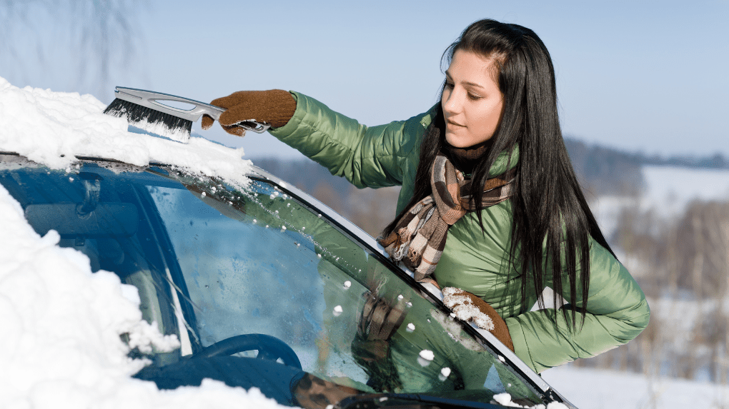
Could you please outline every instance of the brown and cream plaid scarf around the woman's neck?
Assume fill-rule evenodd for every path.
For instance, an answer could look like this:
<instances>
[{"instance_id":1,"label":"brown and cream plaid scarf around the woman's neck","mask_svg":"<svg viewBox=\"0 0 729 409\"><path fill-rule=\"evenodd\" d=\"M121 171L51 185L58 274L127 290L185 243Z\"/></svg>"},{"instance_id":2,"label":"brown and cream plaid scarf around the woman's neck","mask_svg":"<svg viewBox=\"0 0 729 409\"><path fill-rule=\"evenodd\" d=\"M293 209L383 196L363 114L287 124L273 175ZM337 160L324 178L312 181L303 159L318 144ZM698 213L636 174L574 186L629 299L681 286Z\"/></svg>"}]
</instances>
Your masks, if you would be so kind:
<instances>
[{"instance_id":1,"label":"brown and cream plaid scarf around the woman's neck","mask_svg":"<svg viewBox=\"0 0 729 409\"><path fill-rule=\"evenodd\" d=\"M486 180L483 186L483 207L504 202L511 196L515 168ZM430 177L432 194L416 203L402 215L395 229L378 242L393 260L402 261L421 281L429 277L443 255L448 227L456 223L469 210L471 181L453 167L451 161L438 155L433 162ZM461 192L464 193L461 196Z\"/></svg>"}]
</instances>

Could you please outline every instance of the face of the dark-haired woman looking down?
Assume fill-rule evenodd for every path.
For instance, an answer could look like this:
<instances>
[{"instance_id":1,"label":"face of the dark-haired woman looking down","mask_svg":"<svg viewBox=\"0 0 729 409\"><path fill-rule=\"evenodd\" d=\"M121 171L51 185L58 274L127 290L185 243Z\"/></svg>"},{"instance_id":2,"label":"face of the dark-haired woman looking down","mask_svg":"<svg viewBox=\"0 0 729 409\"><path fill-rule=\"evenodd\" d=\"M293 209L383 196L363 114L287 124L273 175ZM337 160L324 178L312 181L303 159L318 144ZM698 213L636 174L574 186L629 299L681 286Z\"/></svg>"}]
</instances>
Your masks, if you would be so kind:
<instances>
[{"instance_id":1,"label":"face of the dark-haired woman looking down","mask_svg":"<svg viewBox=\"0 0 729 409\"><path fill-rule=\"evenodd\" d=\"M494 59L457 50L445 71L445 140L467 148L491 139L501 121L504 95L492 78ZM495 75L495 74L494 74Z\"/></svg>"}]
</instances>

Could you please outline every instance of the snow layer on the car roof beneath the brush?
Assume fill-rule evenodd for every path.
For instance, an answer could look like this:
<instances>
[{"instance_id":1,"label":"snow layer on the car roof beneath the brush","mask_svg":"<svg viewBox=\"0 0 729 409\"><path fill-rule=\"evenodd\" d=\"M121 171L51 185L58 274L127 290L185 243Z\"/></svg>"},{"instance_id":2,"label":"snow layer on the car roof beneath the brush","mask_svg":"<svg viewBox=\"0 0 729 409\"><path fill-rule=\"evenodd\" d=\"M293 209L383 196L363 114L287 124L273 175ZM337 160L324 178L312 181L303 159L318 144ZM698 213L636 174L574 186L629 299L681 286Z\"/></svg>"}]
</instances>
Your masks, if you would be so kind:
<instances>
[{"instance_id":1,"label":"snow layer on the car roof beneath the brush","mask_svg":"<svg viewBox=\"0 0 729 409\"><path fill-rule=\"evenodd\" d=\"M47 167L63 169L74 156L117 159L145 166L171 164L196 174L245 186L251 162L243 149L227 148L204 138L179 143L128 132L125 119L102 113L92 95L20 89L0 77L0 151L15 152Z\"/></svg>"}]
</instances>

